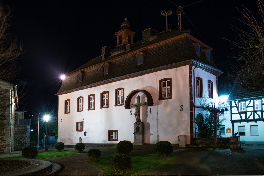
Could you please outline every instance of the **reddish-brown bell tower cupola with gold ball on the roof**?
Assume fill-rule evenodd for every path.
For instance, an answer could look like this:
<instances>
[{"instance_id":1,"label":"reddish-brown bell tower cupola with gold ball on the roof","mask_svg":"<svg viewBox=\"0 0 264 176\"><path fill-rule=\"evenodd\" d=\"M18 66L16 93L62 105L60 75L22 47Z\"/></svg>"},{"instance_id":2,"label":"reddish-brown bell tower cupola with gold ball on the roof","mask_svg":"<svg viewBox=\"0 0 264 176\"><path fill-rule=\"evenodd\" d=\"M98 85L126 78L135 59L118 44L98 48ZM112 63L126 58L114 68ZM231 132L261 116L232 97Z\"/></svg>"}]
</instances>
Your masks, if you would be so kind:
<instances>
[{"instance_id":1,"label":"reddish-brown bell tower cupola with gold ball on the roof","mask_svg":"<svg viewBox=\"0 0 264 176\"><path fill-rule=\"evenodd\" d=\"M121 23L121 28L119 31L115 32L116 35L116 46L123 43L133 44L133 39L135 32L131 31L130 23L125 18L125 21Z\"/></svg>"}]
</instances>

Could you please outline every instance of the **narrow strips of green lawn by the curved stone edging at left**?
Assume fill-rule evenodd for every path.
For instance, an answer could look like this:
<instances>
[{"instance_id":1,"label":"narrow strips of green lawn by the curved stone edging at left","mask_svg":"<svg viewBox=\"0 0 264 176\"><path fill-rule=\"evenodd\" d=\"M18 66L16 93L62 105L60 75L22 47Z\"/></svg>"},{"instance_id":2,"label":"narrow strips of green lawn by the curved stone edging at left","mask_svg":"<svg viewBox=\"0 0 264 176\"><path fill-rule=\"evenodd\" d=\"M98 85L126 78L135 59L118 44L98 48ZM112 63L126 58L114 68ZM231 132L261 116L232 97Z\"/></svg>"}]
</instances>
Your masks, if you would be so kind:
<instances>
[{"instance_id":1,"label":"narrow strips of green lawn by the curved stone edging at left","mask_svg":"<svg viewBox=\"0 0 264 176\"><path fill-rule=\"evenodd\" d=\"M41 159L41 158L50 158L54 156L63 156L63 155L72 155L72 154L79 154L77 151L68 151L68 150L62 150L62 151L45 151L38 153L36 159ZM4 158L25 158L22 155L16 155L16 156L8 156L8 157L2 157L0 159Z\"/></svg>"}]
</instances>

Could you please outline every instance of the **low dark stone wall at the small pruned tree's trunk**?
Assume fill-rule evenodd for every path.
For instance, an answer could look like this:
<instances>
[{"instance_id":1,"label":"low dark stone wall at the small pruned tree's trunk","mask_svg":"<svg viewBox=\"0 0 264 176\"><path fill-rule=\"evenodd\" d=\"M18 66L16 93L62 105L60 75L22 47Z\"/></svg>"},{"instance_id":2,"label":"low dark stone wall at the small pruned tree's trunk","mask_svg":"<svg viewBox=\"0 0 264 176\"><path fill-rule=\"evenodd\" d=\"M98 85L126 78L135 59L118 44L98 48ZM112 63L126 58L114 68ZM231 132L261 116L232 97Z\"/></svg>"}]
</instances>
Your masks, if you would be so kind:
<instances>
[{"instance_id":1,"label":"low dark stone wall at the small pruned tree's trunk","mask_svg":"<svg viewBox=\"0 0 264 176\"><path fill-rule=\"evenodd\" d=\"M191 147L214 147L214 138L192 138ZM217 148L228 149L229 138L219 137L217 138Z\"/></svg>"}]
</instances>

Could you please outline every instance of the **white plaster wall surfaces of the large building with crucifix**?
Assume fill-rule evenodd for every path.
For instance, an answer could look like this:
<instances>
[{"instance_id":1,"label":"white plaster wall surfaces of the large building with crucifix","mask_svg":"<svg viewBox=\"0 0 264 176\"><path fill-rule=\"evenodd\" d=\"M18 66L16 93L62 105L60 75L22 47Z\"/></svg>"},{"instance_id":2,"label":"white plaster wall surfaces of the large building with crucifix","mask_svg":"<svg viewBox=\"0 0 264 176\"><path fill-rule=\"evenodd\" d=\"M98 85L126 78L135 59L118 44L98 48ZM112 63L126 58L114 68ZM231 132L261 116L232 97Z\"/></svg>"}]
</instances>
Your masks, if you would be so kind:
<instances>
[{"instance_id":1,"label":"white plaster wall surfaces of the large building with crucifix","mask_svg":"<svg viewBox=\"0 0 264 176\"><path fill-rule=\"evenodd\" d=\"M216 94L216 76L195 69L195 76L203 79L204 95L207 95L207 81L213 81L214 100ZM158 81L172 78L172 99L158 100ZM67 79L67 78L66 78ZM141 107L141 121L144 123L144 143L156 143L157 140L178 144L179 135L187 135L190 144L190 75L189 66L162 70L118 82L103 84L75 92L59 95L59 141L65 145L75 145L82 138L82 143L111 144L122 140L134 142L135 108L125 109L115 105L115 89L124 88L124 101L128 94L140 89L148 91L153 98L153 106ZM109 91L109 107L100 109L100 93ZM87 110L88 95L95 94L95 110ZM139 92L131 100L136 103L147 101L144 93ZM77 98L83 97L83 111L77 112ZM70 99L70 113L64 114L64 101ZM216 101L217 102L217 101ZM182 111L181 105L183 106ZM131 111L132 110L132 111ZM150 113L151 111L151 113ZM76 122L83 121L83 132L76 131ZM118 141L108 141L107 130L118 130ZM158 136L158 137L157 137Z\"/></svg>"}]
</instances>

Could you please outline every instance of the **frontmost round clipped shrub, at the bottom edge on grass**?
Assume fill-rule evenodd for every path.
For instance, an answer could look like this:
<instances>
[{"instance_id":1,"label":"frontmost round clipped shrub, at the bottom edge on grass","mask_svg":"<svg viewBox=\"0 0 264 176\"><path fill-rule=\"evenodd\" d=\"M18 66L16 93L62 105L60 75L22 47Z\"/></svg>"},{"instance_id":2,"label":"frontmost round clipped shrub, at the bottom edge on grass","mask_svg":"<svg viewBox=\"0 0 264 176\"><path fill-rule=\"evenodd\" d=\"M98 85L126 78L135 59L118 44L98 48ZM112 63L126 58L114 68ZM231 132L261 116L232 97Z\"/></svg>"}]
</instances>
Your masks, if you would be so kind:
<instances>
[{"instance_id":1,"label":"frontmost round clipped shrub, at the bottom edge on grass","mask_svg":"<svg viewBox=\"0 0 264 176\"><path fill-rule=\"evenodd\" d=\"M132 168L132 160L128 155L116 154L110 158L110 167L115 175L124 175Z\"/></svg>"}]
</instances>

